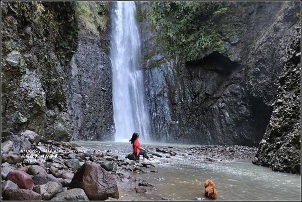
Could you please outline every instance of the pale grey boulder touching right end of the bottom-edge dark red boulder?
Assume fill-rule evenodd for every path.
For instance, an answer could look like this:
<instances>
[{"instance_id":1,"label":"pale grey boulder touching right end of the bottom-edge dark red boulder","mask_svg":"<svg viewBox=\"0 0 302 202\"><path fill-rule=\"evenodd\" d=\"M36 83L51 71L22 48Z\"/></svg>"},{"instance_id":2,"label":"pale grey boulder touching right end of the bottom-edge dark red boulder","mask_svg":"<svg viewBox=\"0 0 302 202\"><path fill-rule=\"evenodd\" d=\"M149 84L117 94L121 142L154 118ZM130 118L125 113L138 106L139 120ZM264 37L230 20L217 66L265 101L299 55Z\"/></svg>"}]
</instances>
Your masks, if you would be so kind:
<instances>
[{"instance_id":1,"label":"pale grey boulder touching right end of the bottom-edge dark red boulder","mask_svg":"<svg viewBox=\"0 0 302 202\"><path fill-rule=\"evenodd\" d=\"M62 188L60 183L55 181L47 182L46 184L39 184L34 187L34 191L42 195L43 200L50 200Z\"/></svg>"}]
</instances>

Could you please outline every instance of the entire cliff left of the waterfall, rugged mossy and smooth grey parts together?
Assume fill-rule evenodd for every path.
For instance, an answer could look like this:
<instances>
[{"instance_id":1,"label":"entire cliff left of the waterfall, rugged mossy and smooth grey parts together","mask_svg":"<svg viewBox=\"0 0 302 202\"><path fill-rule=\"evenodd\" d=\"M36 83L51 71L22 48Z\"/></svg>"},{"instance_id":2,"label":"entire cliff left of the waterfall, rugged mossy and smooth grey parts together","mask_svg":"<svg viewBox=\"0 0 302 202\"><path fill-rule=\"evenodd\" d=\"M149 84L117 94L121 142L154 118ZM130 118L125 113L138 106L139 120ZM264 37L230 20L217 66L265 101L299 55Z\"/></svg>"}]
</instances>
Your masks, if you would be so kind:
<instances>
[{"instance_id":1,"label":"entire cliff left of the waterfall, rugged mossy and smooth grey parts together","mask_svg":"<svg viewBox=\"0 0 302 202\"><path fill-rule=\"evenodd\" d=\"M80 30L74 2L1 9L3 128L58 141L112 140L107 31Z\"/></svg>"}]
</instances>

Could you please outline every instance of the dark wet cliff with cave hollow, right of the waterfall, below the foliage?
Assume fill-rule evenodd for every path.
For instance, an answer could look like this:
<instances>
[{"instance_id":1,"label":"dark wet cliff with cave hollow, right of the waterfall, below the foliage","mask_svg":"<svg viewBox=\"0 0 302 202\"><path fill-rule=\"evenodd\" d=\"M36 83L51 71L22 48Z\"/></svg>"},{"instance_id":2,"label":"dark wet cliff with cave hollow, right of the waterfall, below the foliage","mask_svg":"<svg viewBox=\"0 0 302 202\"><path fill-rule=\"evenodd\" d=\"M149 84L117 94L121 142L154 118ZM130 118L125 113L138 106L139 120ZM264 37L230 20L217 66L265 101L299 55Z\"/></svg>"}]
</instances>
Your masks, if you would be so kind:
<instances>
[{"instance_id":1,"label":"dark wet cliff with cave hollow, right of the waterfall, below the foliage","mask_svg":"<svg viewBox=\"0 0 302 202\"><path fill-rule=\"evenodd\" d=\"M142 13L149 4L136 3ZM221 30L225 49L200 53L205 57L199 61L163 53L148 19L139 24L154 140L257 145L263 137L300 7L270 2L241 8L230 22L241 32L237 39Z\"/></svg>"}]
</instances>

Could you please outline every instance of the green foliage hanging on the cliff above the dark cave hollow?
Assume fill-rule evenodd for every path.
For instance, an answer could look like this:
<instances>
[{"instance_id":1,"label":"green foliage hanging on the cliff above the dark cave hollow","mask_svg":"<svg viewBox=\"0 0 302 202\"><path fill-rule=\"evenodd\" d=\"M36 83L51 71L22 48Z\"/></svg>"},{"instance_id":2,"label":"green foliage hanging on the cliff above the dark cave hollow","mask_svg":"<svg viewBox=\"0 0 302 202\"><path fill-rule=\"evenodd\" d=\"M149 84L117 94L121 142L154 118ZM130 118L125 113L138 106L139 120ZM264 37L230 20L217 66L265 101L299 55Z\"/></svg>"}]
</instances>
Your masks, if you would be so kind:
<instances>
[{"instance_id":1,"label":"green foliage hanging on the cliff above the dark cave hollow","mask_svg":"<svg viewBox=\"0 0 302 202\"><path fill-rule=\"evenodd\" d=\"M229 12L219 2L154 2L148 18L159 33L164 51L197 60L224 49L215 19Z\"/></svg>"}]
</instances>

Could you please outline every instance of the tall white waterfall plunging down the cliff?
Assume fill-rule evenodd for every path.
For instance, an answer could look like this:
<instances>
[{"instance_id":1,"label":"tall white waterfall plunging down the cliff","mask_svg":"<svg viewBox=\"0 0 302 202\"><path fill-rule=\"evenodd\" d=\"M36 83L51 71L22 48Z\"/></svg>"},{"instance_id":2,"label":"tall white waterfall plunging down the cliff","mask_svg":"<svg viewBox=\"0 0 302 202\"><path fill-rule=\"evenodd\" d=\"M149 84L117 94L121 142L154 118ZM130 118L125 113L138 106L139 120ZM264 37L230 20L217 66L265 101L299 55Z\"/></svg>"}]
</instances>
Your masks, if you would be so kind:
<instances>
[{"instance_id":1,"label":"tall white waterfall plunging down the cliff","mask_svg":"<svg viewBox=\"0 0 302 202\"><path fill-rule=\"evenodd\" d=\"M150 121L135 12L134 2L116 2L112 15L110 60L115 141L127 141L133 132L138 132L143 141L149 141Z\"/></svg>"}]
</instances>

